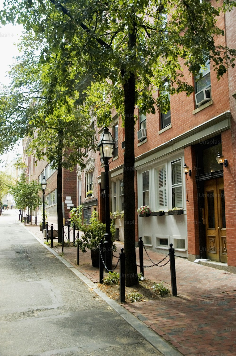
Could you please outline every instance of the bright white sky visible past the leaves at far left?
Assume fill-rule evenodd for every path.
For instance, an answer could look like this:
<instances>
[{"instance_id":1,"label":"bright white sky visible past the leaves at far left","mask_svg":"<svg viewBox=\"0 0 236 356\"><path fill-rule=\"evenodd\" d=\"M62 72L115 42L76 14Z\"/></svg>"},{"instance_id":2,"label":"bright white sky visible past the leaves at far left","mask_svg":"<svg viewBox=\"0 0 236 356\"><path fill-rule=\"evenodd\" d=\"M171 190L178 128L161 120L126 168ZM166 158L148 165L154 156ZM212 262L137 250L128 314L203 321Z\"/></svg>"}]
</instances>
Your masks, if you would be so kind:
<instances>
[{"instance_id":1,"label":"bright white sky visible past the leaves at far left","mask_svg":"<svg viewBox=\"0 0 236 356\"><path fill-rule=\"evenodd\" d=\"M3 8L3 1L0 1L0 9ZM0 27L0 90L3 89L3 85L9 85L10 79L7 78L7 71L10 69L16 59L14 57L19 56L16 43L20 40L23 27L20 25L8 24ZM17 146L9 153L10 157L14 157L16 153L22 153L22 145ZM5 160L7 155L0 156L2 160ZM0 164L0 170L3 167Z\"/></svg>"}]
</instances>

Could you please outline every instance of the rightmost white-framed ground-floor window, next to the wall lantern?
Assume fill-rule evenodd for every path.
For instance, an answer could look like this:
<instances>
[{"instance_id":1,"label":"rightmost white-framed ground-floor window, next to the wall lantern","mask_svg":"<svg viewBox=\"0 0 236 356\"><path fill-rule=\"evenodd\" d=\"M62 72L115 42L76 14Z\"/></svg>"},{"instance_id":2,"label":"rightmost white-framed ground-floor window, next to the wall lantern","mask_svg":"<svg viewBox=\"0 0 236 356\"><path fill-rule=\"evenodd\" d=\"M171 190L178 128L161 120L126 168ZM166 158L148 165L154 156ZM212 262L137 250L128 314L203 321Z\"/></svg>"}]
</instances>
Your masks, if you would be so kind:
<instances>
[{"instance_id":1,"label":"rightmost white-framed ground-floor window, next to the wall lantern","mask_svg":"<svg viewBox=\"0 0 236 356\"><path fill-rule=\"evenodd\" d=\"M183 207L181 159L171 162L172 208Z\"/></svg>"}]
</instances>

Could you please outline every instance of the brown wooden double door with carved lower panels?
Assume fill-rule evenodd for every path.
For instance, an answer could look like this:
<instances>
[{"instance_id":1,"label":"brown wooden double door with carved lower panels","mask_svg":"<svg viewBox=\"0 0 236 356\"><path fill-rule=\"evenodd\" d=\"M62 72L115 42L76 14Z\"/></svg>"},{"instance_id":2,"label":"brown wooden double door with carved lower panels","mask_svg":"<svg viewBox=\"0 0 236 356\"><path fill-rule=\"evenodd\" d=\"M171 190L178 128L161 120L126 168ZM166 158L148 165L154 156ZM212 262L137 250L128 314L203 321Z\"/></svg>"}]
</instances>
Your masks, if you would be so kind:
<instances>
[{"instance_id":1,"label":"brown wooden double door with carved lower panels","mask_svg":"<svg viewBox=\"0 0 236 356\"><path fill-rule=\"evenodd\" d=\"M227 263L225 193L223 178L204 183L207 258Z\"/></svg>"}]
</instances>

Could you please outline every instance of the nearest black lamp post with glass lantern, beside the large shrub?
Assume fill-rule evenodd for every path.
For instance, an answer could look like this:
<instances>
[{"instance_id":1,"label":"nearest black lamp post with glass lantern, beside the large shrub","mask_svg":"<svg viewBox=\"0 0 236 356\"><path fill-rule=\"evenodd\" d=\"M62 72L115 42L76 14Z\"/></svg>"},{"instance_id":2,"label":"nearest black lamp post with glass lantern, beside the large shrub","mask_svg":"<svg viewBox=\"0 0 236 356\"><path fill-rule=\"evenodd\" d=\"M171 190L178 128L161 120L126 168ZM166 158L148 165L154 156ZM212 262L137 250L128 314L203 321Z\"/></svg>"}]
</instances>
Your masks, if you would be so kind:
<instances>
[{"instance_id":1,"label":"nearest black lamp post with glass lantern, beside the large shrub","mask_svg":"<svg viewBox=\"0 0 236 356\"><path fill-rule=\"evenodd\" d=\"M113 156L115 141L111 136L107 127L104 127L100 142L98 143L100 160L104 163L105 169L105 192L106 192L106 232L104 235L104 250L105 250L105 265L112 269L112 242L111 242L111 228L110 228L110 209L109 209L109 160Z\"/></svg>"}]
</instances>

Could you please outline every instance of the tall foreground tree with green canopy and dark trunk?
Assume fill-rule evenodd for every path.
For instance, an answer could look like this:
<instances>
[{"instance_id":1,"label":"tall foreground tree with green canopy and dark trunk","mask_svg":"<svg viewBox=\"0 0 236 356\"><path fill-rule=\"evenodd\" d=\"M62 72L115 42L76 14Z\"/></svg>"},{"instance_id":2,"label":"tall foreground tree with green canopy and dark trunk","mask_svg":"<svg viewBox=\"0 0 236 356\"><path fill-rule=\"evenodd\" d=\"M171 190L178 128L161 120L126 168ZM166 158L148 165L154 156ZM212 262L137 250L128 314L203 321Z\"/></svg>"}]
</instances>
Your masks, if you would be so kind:
<instances>
[{"instance_id":1,"label":"tall foreground tree with green canopy and dark trunk","mask_svg":"<svg viewBox=\"0 0 236 356\"><path fill-rule=\"evenodd\" d=\"M126 285L138 282L135 257L134 132L135 105L141 112L168 110L167 96L192 93L191 75L199 74L212 60L218 78L233 64L235 50L215 42L224 32L216 26L220 11L230 10L235 1L223 0L221 7L208 0L8 0L2 21L23 23L35 36L44 36L40 63L50 68L49 108L54 86L83 104L94 83L106 82L97 119L107 123L110 105L121 114L125 125L124 155L124 245ZM168 78L168 88L164 85ZM160 89L158 98L153 92ZM75 93L78 93L76 95ZM96 96L96 95L95 95ZM64 98L59 98L63 103ZM100 110L99 110L100 109ZM51 109L49 109L51 110Z\"/></svg>"}]
</instances>

